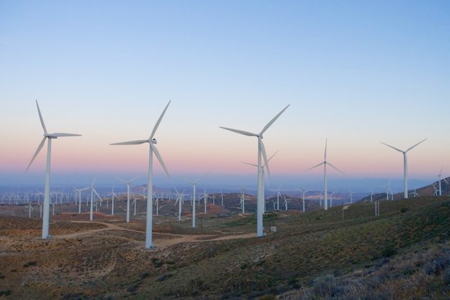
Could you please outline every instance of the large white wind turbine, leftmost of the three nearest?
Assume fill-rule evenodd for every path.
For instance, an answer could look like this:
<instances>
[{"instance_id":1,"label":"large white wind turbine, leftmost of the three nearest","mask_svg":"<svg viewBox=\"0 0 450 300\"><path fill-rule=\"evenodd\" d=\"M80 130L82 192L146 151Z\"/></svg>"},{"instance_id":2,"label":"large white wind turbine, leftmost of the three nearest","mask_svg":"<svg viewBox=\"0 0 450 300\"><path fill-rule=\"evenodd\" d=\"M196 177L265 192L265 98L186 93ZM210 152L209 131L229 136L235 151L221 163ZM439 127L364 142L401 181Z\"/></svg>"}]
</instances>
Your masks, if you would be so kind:
<instances>
[{"instance_id":1,"label":"large white wind turbine, leftmost of the three nearest","mask_svg":"<svg viewBox=\"0 0 450 300\"><path fill-rule=\"evenodd\" d=\"M39 113L39 119L41 120L42 129L44 129L44 138L42 138L41 143L39 146L37 146L36 152L34 152L34 155L31 159L30 164L28 164L27 169L25 170L25 173L30 168L31 164L33 163L34 159L39 154L39 151L41 151L42 147L44 147L44 143L46 139L47 141L47 162L46 162L46 171L45 171L45 189L44 189L44 216L42 218L42 238L46 239L50 237L49 235L49 222L50 222L50 160L51 160L51 140L53 138L61 138L64 136L81 136L80 134L74 134L74 133L48 133L47 129L44 124L44 119L41 115L41 110L39 110L39 104L37 104L37 112Z\"/></svg>"}]
</instances>

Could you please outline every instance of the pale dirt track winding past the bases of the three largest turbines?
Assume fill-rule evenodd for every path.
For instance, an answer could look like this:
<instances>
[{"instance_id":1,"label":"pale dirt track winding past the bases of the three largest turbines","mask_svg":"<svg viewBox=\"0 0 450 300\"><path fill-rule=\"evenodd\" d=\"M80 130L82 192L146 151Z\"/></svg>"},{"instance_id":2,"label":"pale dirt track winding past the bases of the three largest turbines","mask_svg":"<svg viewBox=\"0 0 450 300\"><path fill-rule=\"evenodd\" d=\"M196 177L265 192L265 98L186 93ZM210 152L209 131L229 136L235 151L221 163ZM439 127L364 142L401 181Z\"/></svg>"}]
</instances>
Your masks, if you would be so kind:
<instances>
[{"instance_id":1,"label":"pale dirt track winding past the bases of the three largest turbines","mask_svg":"<svg viewBox=\"0 0 450 300\"><path fill-rule=\"evenodd\" d=\"M133 230L128 228L123 228L111 223L105 223L105 222L96 222L96 221L71 221L72 223L98 223L105 228L98 228L98 229L89 229L85 231L80 231L78 233L69 233L67 235L53 235L52 237L55 239L74 239L77 237L82 237L86 235L94 235L96 233L101 233L102 231L106 230L125 230L125 231L133 231L136 233L142 233L143 231L139 230ZM222 237L217 237L217 235L181 235L176 233L161 233L162 235L172 235L175 236L175 238L172 239L165 239L165 240L158 240L155 239L155 246L156 247L169 247L174 244L181 244L185 242L211 242L216 240L233 240L233 239L241 239L241 238L249 238L249 237L255 237L255 233L245 233L240 235L224 235ZM208 239L208 237L211 237Z\"/></svg>"}]
</instances>

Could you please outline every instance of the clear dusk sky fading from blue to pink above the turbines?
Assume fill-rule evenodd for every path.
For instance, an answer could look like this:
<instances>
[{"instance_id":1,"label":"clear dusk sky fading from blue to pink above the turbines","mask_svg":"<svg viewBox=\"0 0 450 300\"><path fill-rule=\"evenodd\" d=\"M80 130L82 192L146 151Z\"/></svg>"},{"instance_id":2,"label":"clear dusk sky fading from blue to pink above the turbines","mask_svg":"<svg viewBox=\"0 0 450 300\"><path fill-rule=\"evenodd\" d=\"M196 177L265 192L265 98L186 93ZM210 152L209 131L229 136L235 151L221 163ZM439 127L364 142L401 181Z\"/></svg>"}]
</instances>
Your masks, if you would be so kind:
<instances>
[{"instance_id":1,"label":"clear dusk sky fading from blue to pink above the turbines","mask_svg":"<svg viewBox=\"0 0 450 300\"><path fill-rule=\"evenodd\" d=\"M44 185L49 132L52 183L140 176L155 138L155 185L182 177L256 185L264 133L272 186L338 188L449 176L449 1L7 1L0 0L0 185ZM373 179L373 183L371 183ZM378 181L377 181L378 180ZM376 183L375 183L376 182ZM385 183L386 184L386 183ZM399 185L401 186L401 184Z\"/></svg>"}]
</instances>

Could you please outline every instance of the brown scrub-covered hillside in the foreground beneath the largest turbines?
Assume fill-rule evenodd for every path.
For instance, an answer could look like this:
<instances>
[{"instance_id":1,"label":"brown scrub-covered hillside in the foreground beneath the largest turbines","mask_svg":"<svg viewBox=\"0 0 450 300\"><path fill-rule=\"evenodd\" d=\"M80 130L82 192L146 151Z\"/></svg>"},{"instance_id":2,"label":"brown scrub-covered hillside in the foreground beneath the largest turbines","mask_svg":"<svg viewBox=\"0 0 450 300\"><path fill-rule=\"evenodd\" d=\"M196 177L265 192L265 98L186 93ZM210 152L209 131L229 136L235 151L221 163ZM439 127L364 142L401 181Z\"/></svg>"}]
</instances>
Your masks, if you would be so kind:
<instances>
[{"instance_id":1,"label":"brown scrub-covered hillside in the foreground beneath the largest turbines","mask_svg":"<svg viewBox=\"0 0 450 300\"><path fill-rule=\"evenodd\" d=\"M39 220L0 217L0 296L448 299L450 197L380 211L366 202L265 214L277 231L259 238L249 237L252 214L203 214L202 232L155 216L153 250L143 249L143 220L52 221L54 237L40 240Z\"/></svg>"}]
</instances>

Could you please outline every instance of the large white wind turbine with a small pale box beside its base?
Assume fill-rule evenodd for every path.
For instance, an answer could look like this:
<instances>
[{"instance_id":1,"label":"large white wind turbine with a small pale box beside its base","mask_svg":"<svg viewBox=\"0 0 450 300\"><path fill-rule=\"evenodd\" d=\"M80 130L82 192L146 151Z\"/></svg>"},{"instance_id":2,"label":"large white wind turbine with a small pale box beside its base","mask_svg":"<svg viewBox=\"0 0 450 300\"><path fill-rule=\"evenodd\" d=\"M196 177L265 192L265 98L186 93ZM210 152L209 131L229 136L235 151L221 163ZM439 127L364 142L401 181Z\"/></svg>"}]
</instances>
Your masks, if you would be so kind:
<instances>
[{"instance_id":1,"label":"large white wind turbine with a small pale box beside its base","mask_svg":"<svg viewBox=\"0 0 450 300\"><path fill-rule=\"evenodd\" d=\"M265 166L267 169L267 174L270 176L269 171L269 164L267 161L267 155L266 155L266 149L264 148L264 143L262 143L262 138L264 132L266 132L267 129L271 126L271 124L274 124L276 119L281 116L281 114L288 109L289 105L286 106L281 112L278 112L278 115L276 115L269 123L264 126L261 132L259 133L252 133L249 131L243 131L239 129L231 129L226 127L220 127L221 129L226 129L229 131L233 131L239 134L243 134L244 136L255 136L258 138L258 193L257 193L257 236L261 237L264 235L262 232L262 214L264 214L265 211L265 205L264 205L264 176L262 173L262 158L264 158Z\"/></svg>"}]
</instances>

